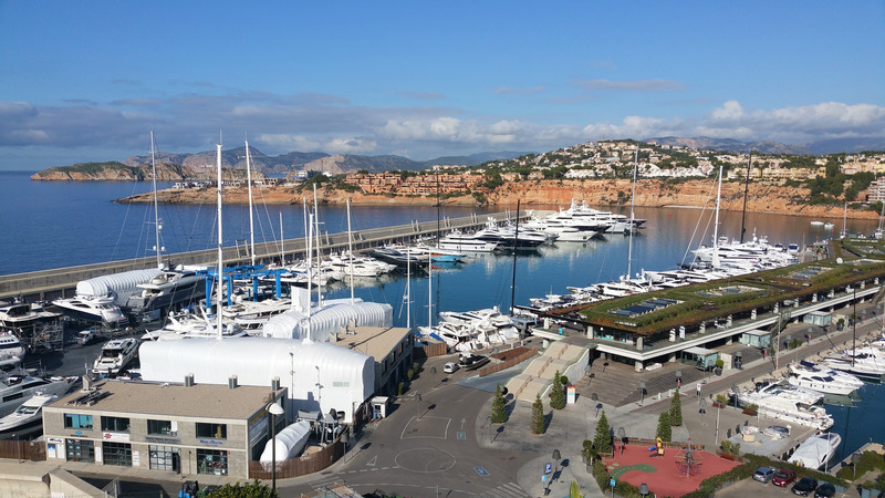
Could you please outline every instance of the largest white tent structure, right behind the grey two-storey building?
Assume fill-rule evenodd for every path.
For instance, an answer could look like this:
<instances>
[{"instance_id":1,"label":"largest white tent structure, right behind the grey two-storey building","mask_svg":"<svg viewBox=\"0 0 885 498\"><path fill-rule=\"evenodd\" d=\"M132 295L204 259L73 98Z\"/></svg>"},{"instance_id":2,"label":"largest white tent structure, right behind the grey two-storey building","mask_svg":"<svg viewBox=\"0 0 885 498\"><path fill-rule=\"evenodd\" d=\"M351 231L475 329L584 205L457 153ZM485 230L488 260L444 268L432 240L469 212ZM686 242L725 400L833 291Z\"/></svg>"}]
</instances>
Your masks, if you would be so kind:
<instances>
[{"instance_id":1,"label":"largest white tent structure, right behind the grey two-storey building","mask_svg":"<svg viewBox=\"0 0 885 498\"><path fill-rule=\"evenodd\" d=\"M142 377L152 382L267 386L274 377L289 388L287 413L301 411L353 412L374 391L372 356L327 342L293 339L231 338L148 341L138 350Z\"/></svg>"}]
</instances>

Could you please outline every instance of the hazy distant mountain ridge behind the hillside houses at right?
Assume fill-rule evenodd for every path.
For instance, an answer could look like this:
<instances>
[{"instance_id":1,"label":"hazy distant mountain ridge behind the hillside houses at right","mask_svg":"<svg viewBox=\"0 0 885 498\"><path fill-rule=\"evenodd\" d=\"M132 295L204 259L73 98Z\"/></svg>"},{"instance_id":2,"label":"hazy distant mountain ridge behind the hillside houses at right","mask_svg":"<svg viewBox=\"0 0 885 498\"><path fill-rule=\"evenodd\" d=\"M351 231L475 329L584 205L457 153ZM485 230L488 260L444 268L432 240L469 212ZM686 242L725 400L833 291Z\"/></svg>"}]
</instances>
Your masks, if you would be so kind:
<instances>
[{"instance_id":1,"label":"hazy distant mountain ridge behind the hillside houses at right","mask_svg":"<svg viewBox=\"0 0 885 498\"><path fill-rule=\"evenodd\" d=\"M788 145L780 142L740 142L731 138L710 138L699 136L694 138L665 136L646 138L644 142L660 145L681 145L708 151L749 152L762 154L792 154L792 155L825 155L839 153L858 153L864 151L885 151L885 137L879 138L834 138L816 141L806 144Z\"/></svg>"}]
</instances>

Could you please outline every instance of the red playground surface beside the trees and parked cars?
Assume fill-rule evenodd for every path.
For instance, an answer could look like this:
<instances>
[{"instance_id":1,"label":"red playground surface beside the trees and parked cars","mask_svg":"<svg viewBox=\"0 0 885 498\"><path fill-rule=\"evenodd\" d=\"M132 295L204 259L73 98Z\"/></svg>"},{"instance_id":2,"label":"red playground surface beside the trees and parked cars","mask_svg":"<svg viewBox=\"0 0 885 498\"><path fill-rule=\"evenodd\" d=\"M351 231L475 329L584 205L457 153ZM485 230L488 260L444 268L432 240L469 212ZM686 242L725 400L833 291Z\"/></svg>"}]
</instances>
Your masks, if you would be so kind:
<instances>
[{"instance_id":1,"label":"red playground surface beside the trees and parked cars","mask_svg":"<svg viewBox=\"0 0 885 498\"><path fill-rule=\"evenodd\" d=\"M686 475L685 468L679 468L679 455L681 449L667 448L664 456L652 457L655 453L648 452L646 446L627 445L624 454L621 454L621 446L615 449L615 457L605 460L610 474L621 474L616 480L624 480L633 486L639 487L645 483L648 490L658 497L679 497L691 492L700 487L700 483L710 476L722 474L737 467L737 461L719 458L706 452L695 452L695 457L699 465L695 465L691 475ZM636 469L626 470L625 467L638 466ZM625 471L626 470L626 471Z\"/></svg>"}]
</instances>

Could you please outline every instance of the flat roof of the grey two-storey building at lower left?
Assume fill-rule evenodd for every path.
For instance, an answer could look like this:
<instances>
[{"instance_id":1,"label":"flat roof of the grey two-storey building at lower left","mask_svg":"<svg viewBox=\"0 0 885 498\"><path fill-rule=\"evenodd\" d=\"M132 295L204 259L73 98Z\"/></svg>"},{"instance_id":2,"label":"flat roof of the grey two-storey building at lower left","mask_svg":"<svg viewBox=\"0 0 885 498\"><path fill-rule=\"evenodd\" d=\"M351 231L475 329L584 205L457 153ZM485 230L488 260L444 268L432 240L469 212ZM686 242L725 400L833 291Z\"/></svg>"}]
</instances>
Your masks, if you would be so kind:
<instances>
[{"instance_id":1,"label":"flat roof of the grey two-storey building at lower left","mask_svg":"<svg viewBox=\"0 0 885 498\"><path fill-rule=\"evenodd\" d=\"M184 378L183 378L184 381ZM270 386L229 388L227 385L153 383L108 380L93 384L94 402L75 404L83 391L74 391L49 405L59 409L83 409L199 418L247 419L273 398ZM282 391L282 390L281 390Z\"/></svg>"}]
</instances>

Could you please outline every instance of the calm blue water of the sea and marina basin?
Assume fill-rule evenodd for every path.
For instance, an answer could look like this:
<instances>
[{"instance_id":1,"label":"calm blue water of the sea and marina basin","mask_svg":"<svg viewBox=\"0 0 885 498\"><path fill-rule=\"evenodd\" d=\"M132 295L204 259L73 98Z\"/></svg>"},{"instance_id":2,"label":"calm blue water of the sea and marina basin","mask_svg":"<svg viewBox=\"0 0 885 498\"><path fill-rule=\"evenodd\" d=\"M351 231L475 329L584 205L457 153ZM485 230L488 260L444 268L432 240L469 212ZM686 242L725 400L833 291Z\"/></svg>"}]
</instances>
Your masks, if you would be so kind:
<instances>
[{"instance_id":1,"label":"calm blue water of the sea and marina basin","mask_svg":"<svg viewBox=\"0 0 885 498\"><path fill-rule=\"evenodd\" d=\"M73 264L153 256L153 206L118 205L113 199L150 191L150 183L51 183L31 181L29 173L0 172L0 274L18 273ZM163 186L167 186L164 184ZM302 237L301 206L267 206L257 195L256 241L280 238L280 214L283 236ZM543 207L554 209L553 206ZM541 208L539 208L541 209ZM490 210L503 210L493 208ZM487 212L476 208L444 207L442 216L460 217ZM628 214L626 210L622 212ZM215 206L160 206L163 245L167 252L209 249L217 245ZM636 216L647 218L646 229L633 239L632 271L674 268L690 258L688 248L709 241L712 214L686 208L636 208ZM354 229L408 224L413 219L431 221L435 207L354 207ZM324 230L346 231L344 207L321 207ZM772 242L809 243L830 237L823 228L810 225L811 218L747 214L747 236L753 229ZM831 219L835 230L841 219ZM249 210L246 206L223 208L225 246L249 238ZM720 235L738 237L741 214L720 214ZM847 230L870 234L875 221L848 220ZM537 252L521 252L516 258L516 303L528 304L529 298L545 293L564 293L566 286L586 286L614 280L627 270L629 238L610 236L586 245L559 243ZM511 303L513 257L481 255L452 268L436 268L433 281L433 312L466 311ZM406 324L406 279L402 276L384 280L360 281L360 298L388 302L394 307L394 321ZM428 317L428 279L416 276L410 281L410 323L423 325ZM325 295L344 298L350 290L326 290ZM835 418L834 430L845 440L846 454L872 438L885 440L885 426L879 424L885 408L883 387L866 386L864 402L857 407L829 407ZM847 433L846 433L847 429Z\"/></svg>"}]
</instances>

